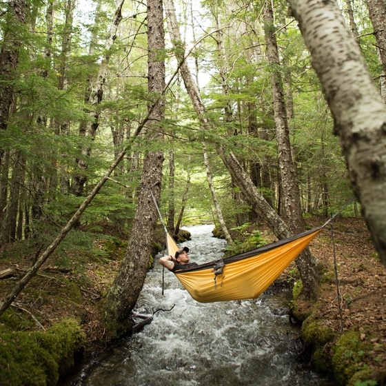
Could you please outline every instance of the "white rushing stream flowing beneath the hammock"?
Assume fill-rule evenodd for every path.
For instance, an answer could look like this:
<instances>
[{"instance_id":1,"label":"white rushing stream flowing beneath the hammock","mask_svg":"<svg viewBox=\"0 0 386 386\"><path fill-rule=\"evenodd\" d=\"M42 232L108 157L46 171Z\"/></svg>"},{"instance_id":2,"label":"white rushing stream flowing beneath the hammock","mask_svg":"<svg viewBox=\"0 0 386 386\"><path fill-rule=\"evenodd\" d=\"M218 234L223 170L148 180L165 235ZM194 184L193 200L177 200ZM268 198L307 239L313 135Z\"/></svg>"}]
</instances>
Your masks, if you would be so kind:
<instances>
[{"instance_id":1,"label":"white rushing stream flowing beneath the hammock","mask_svg":"<svg viewBox=\"0 0 386 386\"><path fill-rule=\"evenodd\" d=\"M212 237L212 225L186 227L190 260L223 256L225 241ZM95 358L71 385L325 385L296 361L298 329L287 316L288 292L258 299L197 303L177 278L156 261L136 312L152 323ZM68 384L70 385L70 383Z\"/></svg>"}]
</instances>

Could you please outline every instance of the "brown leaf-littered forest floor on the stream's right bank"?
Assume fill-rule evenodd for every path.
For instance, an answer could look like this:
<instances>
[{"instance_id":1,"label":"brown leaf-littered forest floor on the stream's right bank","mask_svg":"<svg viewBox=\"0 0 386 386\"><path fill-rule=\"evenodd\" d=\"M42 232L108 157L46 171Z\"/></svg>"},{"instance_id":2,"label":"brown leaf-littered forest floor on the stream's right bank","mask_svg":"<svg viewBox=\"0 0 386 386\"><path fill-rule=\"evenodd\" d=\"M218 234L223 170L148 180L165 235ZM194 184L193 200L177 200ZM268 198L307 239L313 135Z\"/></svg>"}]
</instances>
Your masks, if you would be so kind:
<instances>
[{"instance_id":1,"label":"brown leaf-littered forest floor on the stream's right bank","mask_svg":"<svg viewBox=\"0 0 386 386\"><path fill-rule=\"evenodd\" d=\"M321 221L307 219L307 224L316 227ZM325 365L333 370L333 363L334 376L337 371L342 372L338 376L341 381L356 373L350 385L385 385L386 267L380 263L365 221L338 217L332 229L327 226L314 238L310 250L327 268L325 278L316 303L299 300L296 305L304 314L311 313L310 319L318 327L334 332L335 345L328 339L323 342L323 338L319 342L327 358ZM303 338L307 340L307 333ZM312 339L318 341L317 336Z\"/></svg>"}]
</instances>

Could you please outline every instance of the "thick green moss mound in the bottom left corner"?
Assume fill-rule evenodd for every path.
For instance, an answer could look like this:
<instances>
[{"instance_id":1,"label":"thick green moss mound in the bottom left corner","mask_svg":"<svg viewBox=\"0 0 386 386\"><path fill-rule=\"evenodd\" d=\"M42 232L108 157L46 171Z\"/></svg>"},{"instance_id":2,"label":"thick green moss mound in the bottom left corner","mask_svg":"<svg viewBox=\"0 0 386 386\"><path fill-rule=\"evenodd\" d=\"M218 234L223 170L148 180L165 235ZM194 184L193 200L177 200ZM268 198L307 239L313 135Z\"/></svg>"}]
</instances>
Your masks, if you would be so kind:
<instances>
[{"instance_id":1,"label":"thick green moss mound in the bottom left corner","mask_svg":"<svg viewBox=\"0 0 386 386\"><path fill-rule=\"evenodd\" d=\"M56 385L74 365L74 354L84 343L84 333L73 320L47 332L4 332L0 337L0 384Z\"/></svg>"}]
</instances>

